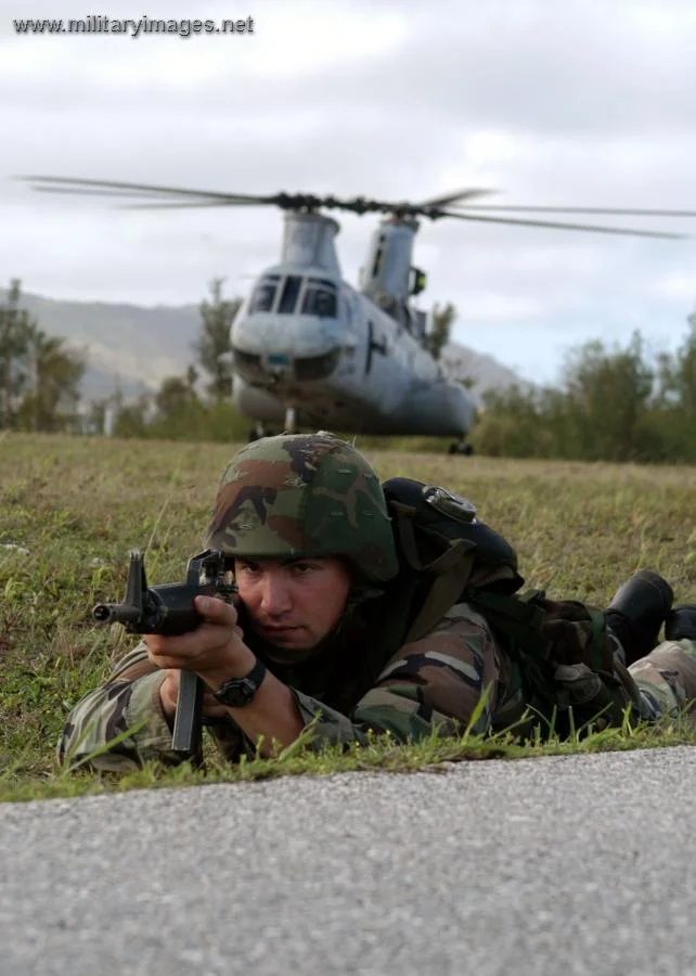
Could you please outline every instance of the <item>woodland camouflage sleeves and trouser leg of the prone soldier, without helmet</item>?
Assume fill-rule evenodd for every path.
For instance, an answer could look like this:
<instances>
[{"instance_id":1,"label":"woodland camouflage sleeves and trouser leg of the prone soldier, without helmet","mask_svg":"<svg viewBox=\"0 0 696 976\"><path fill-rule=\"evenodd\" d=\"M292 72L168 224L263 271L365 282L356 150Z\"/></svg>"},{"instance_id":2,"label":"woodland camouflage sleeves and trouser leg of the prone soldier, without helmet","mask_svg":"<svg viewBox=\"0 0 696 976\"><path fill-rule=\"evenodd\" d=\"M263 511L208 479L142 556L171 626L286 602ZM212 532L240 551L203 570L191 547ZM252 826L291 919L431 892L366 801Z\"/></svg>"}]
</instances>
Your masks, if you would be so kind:
<instances>
[{"instance_id":1,"label":"woodland camouflage sleeves and trouser leg of the prone soldier, without helmet","mask_svg":"<svg viewBox=\"0 0 696 976\"><path fill-rule=\"evenodd\" d=\"M473 732L512 728L521 733L533 723L523 722L529 694L516 666L501 653L484 617L467 604L452 607L429 634L404 645L353 707L341 705L339 710L321 688L314 694L302 690L301 677L297 679L292 669L279 665L272 669L289 684L306 727L314 724L309 743L314 749L325 744L364 744L371 731L388 732L398 742L462 732L481 697L484 707ZM644 718L674 716L686 702L696 699L696 642L665 642L632 665L629 673L635 680ZM176 765L172 730L159 703L162 680L145 645L139 644L102 688L75 707L59 743L59 761L74 763L102 750L91 761L98 770L125 772L147 760ZM210 727L210 732L229 761L255 755L254 745L232 720ZM103 752L116 736L123 741Z\"/></svg>"}]
</instances>

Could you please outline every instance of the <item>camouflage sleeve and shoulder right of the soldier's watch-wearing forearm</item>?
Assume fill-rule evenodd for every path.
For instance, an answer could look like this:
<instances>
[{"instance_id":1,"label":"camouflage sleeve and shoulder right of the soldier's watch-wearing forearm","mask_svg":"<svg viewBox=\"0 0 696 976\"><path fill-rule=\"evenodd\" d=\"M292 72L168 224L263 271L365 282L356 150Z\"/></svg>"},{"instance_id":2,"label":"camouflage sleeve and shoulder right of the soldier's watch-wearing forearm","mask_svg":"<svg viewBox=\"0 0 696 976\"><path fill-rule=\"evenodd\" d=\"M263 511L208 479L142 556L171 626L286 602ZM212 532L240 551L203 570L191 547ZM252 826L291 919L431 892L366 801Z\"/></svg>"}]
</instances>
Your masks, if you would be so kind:
<instances>
[{"instance_id":1,"label":"camouflage sleeve and shoulder right of the soldier's watch-wearing forearm","mask_svg":"<svg viewBox=\"0 0 696 976\"><path fill-rule=\"evenodd\" d=\"M398 742L491 728L501 673L485 619L466 604L452 607L424 638L405 644L350 717L294 690L301 717L314 722L313 748L368 742L370 731ZM477 712L478 714L475 715Z\"/></svg>"}]
</instances>

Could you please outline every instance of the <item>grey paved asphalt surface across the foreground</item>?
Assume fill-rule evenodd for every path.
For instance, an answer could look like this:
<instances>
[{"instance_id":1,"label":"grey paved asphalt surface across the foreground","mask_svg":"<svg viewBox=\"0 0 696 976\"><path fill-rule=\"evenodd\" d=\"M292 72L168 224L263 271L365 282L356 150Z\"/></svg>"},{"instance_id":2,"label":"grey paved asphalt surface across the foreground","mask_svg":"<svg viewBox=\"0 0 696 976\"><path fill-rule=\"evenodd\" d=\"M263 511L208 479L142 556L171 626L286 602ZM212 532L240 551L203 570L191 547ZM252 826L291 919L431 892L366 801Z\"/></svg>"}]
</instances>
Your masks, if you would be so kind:
<instances>
[{"instance_id":1,"label":"grey paved asphalt surface across the foreground","mask_svg":"<svg viewBox=\"0 0 696 976\"><path fill-rule=\"evenodd\" d=\"M696 750L0 806L0 974L696 974Z\"/></svg>"}]
</instances>

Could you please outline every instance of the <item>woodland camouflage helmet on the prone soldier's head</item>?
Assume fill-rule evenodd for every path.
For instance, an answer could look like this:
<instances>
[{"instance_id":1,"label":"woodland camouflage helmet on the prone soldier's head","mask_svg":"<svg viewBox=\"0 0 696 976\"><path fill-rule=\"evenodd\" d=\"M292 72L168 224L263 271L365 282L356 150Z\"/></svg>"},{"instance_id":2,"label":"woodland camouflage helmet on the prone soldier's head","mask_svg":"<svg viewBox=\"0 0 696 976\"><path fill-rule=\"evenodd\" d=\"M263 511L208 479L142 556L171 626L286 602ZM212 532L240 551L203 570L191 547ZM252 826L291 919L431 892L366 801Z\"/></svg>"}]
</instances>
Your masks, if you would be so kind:
<instances>
[{"instance_id":1,"label":"woodland camouflage helmet on the prone soldier's head","mask_svg":"<svg viewBox=\"0 0 696 976\"><path fill-rule=\"evenodd\" d=\"M340 555L370 582L399 569L377 475L324 431L263 437L239 451L220 479L205 544L256 558Z\"/></svg>"}]
</instances>

